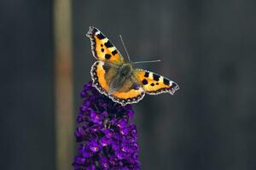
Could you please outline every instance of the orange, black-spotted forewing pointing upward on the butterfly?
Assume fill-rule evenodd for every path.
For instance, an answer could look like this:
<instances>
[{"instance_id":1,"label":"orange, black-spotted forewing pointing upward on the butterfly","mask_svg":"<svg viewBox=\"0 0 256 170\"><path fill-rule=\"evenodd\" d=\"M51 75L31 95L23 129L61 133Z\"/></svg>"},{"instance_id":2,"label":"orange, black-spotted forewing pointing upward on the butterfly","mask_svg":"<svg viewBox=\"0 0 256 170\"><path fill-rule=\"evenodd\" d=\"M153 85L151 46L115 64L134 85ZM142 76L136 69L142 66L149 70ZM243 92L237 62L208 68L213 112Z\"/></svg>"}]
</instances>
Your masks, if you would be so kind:
<instances>
[{"instance_id":1,"label":"orange, black-spotted forewing pointing upward on the butterfly","mask_svg":"<svg viewBox=\"0 0 256 170\"><path fill-rule=\"evenodd\" d=\"M112 63L114 65L121 65L124 63L122 55L119 50L114 47L113 43L105 37L101 31L95 27L90 26L87 37L90 37L91 51L96 59Z\"/></svg>"}]
</instances>

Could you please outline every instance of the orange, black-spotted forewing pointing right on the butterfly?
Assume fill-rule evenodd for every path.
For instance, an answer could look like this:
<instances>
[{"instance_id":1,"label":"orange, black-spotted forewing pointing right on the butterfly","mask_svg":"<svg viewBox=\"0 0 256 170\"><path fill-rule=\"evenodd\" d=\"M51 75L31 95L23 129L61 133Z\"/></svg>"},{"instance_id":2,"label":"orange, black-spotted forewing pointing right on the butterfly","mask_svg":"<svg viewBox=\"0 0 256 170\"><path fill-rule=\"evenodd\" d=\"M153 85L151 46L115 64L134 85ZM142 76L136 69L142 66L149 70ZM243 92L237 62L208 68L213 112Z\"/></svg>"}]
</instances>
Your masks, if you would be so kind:
<instances>
[{"instance_id":1,"label":"orange, black-spotted forewing pointing right on the butterfly","mask_svg":"<svg viewBox=\"0 0 256 170\"><path fill-rule=\"evenodd\" d=\"M176 82L172 82L166 77L162 77L154 72L135 69L133 74L147 94L174 94L178 89Z\"/></svg>"}]
</instances>

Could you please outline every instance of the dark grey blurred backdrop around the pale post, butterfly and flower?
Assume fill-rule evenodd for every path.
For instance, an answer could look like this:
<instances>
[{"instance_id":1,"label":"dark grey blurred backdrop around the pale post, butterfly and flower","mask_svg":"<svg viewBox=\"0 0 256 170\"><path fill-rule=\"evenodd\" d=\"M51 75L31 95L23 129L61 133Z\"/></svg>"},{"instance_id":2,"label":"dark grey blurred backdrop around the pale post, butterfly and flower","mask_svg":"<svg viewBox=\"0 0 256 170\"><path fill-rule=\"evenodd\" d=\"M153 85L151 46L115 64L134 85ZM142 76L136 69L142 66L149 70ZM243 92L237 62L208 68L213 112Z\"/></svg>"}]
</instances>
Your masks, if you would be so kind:
<instances>
[{"instance_id":1,"label":"dark grey blurred backdrop around the pale post, butterfly and flower","mask_svg":"<svg viewBox=\"0 0 256 170\"><path fill-rule=\"evenodd\" d=\"M54 4L0 2L4 170L56 169ZM85 33L96 26L125 55L121 34L131 59L160 58L137 66L180 86L133 105L142 169L256 169L253 1L75 0L71 8L73 117L95 62Z\"/></svg>"}]
</instances>

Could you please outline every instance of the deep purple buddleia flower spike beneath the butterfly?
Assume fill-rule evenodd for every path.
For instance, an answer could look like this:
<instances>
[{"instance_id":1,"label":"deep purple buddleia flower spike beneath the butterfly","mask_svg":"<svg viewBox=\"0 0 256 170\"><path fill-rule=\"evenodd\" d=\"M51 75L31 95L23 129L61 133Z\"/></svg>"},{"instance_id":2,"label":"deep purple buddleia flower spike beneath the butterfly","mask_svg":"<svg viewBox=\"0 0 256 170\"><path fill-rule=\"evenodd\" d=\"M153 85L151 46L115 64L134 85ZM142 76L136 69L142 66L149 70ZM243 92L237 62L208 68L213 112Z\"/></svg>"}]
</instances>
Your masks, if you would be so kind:
<instances>
[{"instance_id":1,"label":"deep purple buddleia flower spike beneath the butterfly","mask_svg":"<svg viewBox=\"0 0 256 170\"><path fill-rule=\"evenodd\" d=\"M129 122L134 115L131 105L113 102L91 82L84 85L81 97L84 102L74 133L79 147L73 169L140 169L137 127Z\"/></svg>"}]
</instances>

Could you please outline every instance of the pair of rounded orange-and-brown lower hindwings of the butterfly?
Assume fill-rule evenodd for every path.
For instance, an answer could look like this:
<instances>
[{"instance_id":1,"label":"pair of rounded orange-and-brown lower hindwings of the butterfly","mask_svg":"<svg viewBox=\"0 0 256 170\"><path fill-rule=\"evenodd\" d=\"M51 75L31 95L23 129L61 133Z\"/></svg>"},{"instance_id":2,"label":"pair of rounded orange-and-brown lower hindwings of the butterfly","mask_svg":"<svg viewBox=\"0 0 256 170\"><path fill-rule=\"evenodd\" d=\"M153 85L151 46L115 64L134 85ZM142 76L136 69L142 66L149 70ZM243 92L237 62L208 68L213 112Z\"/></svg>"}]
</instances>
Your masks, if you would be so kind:
<instances>
[{"instance_id":1,"label":"pair of rounded orange-and-brown lower hindwings of the butterfly","mask_svg":"<svg viewBox=\"0 0 256 170\"><path fill-rule=\"evenodd\" d=\"M116 77L117 70L118 67L114 65L109 65L101 60L96 61L91 66L90 71L93 86L102 94L107 95L110 99L121 105L137 103L143 99L145 94L143 88L131 77L125 80L124 86L119 88L119 90L108 94L110 83L113 81L113 77Z\"/></svg>"}]
</instances>

